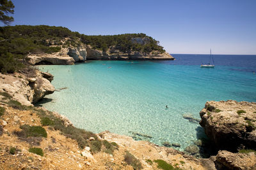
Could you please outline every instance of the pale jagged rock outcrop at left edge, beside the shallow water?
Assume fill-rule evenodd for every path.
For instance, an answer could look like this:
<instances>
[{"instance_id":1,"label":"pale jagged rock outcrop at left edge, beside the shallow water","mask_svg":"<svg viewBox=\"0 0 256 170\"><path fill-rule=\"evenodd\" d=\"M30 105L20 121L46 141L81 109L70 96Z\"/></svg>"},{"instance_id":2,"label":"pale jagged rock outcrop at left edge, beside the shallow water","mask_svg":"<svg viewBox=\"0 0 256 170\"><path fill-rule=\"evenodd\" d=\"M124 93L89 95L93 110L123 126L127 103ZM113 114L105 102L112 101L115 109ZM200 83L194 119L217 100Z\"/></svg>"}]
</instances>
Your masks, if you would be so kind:
<instances>
[{"instance_id":1,"label":"pale jagged rock outcrop at left edge, beside the shallow water","mask_svg":"<svg viewBox=\"0 0 256 170\"><path fill-rule=\"evenodd\" d=\"M0 73L0 99L4 101L13 99L29 106L54 92L52 80L51 74L37 70L28 73Z\"/></svg>"}]
</instances>

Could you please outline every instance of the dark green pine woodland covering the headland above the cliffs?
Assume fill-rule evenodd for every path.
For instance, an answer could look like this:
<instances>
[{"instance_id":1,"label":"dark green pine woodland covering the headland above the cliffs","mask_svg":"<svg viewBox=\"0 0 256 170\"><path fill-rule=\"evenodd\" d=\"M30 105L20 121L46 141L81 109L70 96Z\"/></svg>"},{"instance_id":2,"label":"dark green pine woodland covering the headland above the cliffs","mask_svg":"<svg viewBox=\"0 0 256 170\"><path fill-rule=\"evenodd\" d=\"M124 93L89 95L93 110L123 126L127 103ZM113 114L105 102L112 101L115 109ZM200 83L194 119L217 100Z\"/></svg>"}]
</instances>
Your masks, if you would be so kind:
<instances>
[{"instance_id":1,"label":"dark green pine woodland covering the headland above the cliffs","mask_svg":"<svg viewBox=\"0 0 256 170\"><path fill-rule=\"evenodd\" d=\"M147 43L134 43L133 38L145 38ZM26 66L28 54L56 53L61 48L77 47L86 44L93 49L106 52L113 47L120 52L131 51L150 53L164 52L159 41L146 34L118 34L88 36L72 32L65 27L48 25L15 25L0 27L0 71L14 73Z\"/></svg>"}]
</instances>

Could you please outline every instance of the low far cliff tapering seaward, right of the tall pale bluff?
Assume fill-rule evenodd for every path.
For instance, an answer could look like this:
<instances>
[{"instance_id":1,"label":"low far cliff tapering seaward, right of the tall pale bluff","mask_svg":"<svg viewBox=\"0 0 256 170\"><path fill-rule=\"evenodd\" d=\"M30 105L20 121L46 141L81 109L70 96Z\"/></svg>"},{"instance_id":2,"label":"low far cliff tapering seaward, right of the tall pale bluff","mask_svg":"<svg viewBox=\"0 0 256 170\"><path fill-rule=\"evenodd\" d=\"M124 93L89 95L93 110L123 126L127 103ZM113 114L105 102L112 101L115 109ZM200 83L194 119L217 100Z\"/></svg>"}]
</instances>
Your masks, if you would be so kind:
<instances>
[{"instance_id":1,"label":"low far cliff tapering seaward, right of the tall pale bluff","mask_svg":"<svg viewBox=\"0 0 256 170\"><path fill-rule=\"evenodd\" d=\"M150 53L129 52L123 53L111 46L107 52L93 49L90 45L86 46L87 60L174 60L172 55L167 52L161 53L152 51Z\"/></svg>"}]
</instances>

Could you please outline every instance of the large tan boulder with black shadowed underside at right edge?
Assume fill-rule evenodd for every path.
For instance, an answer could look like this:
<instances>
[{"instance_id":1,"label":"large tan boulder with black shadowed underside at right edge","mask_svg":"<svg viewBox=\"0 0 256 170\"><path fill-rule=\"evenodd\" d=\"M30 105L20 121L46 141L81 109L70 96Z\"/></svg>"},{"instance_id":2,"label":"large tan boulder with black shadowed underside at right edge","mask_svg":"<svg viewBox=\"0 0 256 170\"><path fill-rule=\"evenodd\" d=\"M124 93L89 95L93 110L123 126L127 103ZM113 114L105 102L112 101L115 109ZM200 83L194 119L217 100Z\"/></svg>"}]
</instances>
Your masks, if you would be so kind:
<instances>
[{"instance_id":1,"label":"large tan boulder with black shadowed underside at right edge","mask_svg":"<svg viewBox=\"0 0 256 170\"><path fill-rule=\"evenodd\" d=\"M209 101L200 111L205 134L223 150L256 149L256 103Z\"/></svg>"}]
</instances>

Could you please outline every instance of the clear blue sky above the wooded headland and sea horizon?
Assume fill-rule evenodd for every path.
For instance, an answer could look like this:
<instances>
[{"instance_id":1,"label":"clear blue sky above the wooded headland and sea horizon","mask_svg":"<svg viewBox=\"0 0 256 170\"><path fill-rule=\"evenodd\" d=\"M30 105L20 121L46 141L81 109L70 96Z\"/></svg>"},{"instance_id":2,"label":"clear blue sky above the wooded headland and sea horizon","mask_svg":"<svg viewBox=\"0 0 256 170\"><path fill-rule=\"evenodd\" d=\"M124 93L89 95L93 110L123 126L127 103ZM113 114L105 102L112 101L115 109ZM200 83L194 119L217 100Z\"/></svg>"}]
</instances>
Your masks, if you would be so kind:
<instances>
[{"instance_id":1,"label":"clear blue sky above the wooded headland and sea horizon","mask_svg":"<svg viewBox=\"0 0 256 170\"><path fill-rule=\"evenodd\" d=\"M143 32L169 53L256 54L256 0L12 2L11 25L56 25L88 35Z\"/></svg>"}]
</instances>

